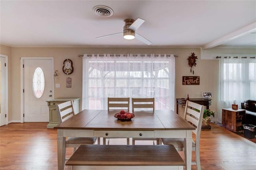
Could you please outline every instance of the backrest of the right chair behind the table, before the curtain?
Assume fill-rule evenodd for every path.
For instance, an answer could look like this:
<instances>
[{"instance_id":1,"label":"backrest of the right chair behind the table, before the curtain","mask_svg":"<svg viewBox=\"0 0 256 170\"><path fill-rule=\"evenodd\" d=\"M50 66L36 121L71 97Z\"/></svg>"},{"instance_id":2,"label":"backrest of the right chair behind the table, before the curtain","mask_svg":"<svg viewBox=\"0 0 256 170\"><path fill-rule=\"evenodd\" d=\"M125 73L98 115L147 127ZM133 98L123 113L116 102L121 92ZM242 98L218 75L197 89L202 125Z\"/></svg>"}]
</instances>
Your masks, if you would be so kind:
<instances>
[{"instance_id":1,"label":"backrest of the right chair behind the table, before the curtain","mask_svg":"<svg viewBox=\"0 0 256 170\"><path fill-rule=\"evenodd\" d=\"M155 110L155 98L132 98L132 111L134 108L152 108Z\"/></svg>"}]
</instances>

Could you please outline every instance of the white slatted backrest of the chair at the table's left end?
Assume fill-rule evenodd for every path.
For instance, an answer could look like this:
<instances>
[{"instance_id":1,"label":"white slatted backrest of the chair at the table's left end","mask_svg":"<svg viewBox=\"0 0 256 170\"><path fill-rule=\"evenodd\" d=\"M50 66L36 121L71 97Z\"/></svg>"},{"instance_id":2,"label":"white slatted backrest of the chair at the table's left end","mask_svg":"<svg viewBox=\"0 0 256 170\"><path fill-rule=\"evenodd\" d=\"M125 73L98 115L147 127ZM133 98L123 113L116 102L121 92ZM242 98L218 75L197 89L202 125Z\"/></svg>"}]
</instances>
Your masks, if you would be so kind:
<instances>
[{"instance_id":1,"label":"white slatted backrest of the chair at the table's left end","mask_svg":"<svg viewBox=\"0 0 256 170\"><path fill-rule=\"evenodd\" d=\"M74 104L72 100L60 103L56 105L56 108L59 123L62 123L74 116Z\"/></svg>"}]
</instances>

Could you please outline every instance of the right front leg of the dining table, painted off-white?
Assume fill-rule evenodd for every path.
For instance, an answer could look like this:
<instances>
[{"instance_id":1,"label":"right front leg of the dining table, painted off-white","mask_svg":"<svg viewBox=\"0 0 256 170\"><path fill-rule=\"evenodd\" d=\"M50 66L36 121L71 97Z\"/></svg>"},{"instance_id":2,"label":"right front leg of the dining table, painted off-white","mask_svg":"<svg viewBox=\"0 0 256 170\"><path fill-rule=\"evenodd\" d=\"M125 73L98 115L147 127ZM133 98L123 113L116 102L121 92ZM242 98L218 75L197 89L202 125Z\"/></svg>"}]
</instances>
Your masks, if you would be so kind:
<instances>
[{"instance_id":1,"label":"right front leg of the dining table, painted off-white","mask_svg":"<svg viewBox=\"0 0 256 170\"><path fill-rule=\"evenodd\" d=\"M187 130L185 142L185 160L186 160L186 170L191 170L192 162L192 130Z\"/></svg>"}]
</instances>

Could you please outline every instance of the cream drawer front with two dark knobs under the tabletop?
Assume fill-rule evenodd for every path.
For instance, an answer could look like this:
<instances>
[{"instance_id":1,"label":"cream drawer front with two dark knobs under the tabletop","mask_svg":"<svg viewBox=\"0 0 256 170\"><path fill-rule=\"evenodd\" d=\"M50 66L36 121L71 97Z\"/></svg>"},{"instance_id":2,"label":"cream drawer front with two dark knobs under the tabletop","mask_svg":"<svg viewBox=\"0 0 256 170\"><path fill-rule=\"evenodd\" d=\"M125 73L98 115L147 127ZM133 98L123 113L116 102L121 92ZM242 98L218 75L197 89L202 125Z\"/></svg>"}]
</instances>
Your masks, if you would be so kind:
<instances>
[{"instance_id":1,"label":"cream drawer front with two dark knobs under the tabletop","mask_svg":"<svg viewBox=\"0 0 256 170\"><path fill-rule=\"evenodd\" d=\"M119 137L119 138L154 138L154 131L114 131L94 130L95 137Z\"/></svg>"}]
</instances>

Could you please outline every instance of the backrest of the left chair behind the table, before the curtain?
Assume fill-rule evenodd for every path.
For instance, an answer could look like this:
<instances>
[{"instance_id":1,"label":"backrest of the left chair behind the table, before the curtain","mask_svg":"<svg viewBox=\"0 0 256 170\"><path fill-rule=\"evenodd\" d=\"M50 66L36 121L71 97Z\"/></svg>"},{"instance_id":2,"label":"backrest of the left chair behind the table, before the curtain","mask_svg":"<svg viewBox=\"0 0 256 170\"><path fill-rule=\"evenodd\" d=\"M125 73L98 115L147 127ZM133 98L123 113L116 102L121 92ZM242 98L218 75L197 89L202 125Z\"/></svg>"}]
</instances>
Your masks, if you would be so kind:
<instances>
[{"instance_id":1,"label":"backrest of the left chair behind the table, before the curtain","mask_svg":"<svg viewBox=\"0 0 256 170\"><path fill-rule=\"evenodd\" d=\"M129 111L130 97L108 97L108 110L110 109L124 109Z\"/></svg>"}]
</instances>

